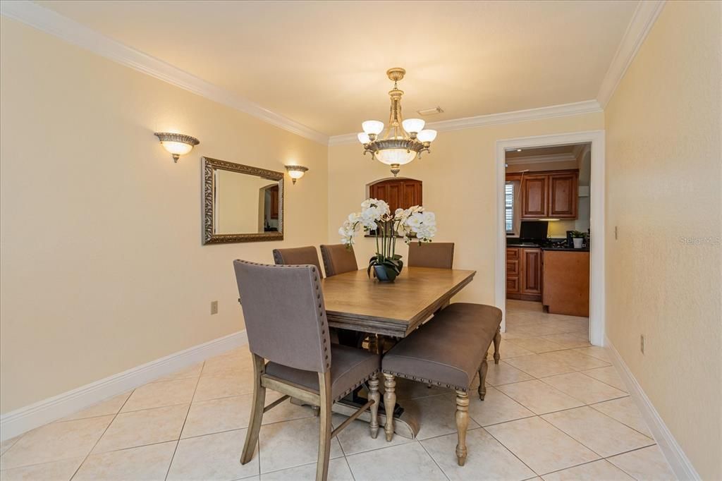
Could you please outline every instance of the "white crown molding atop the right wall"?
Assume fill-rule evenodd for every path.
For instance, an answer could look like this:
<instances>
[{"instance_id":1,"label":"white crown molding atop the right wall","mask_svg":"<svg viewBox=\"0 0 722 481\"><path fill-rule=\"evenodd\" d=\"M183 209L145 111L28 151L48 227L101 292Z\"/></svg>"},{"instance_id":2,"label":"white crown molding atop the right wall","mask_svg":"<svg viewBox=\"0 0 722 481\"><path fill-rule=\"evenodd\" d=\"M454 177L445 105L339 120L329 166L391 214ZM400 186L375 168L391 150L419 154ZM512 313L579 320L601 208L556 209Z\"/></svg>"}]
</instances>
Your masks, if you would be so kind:
<instances>
[{"instance_id":1,"label":"white crown molding atop the right wall","mask_svg":"<svg viewBox=\"0 0 722 481\"><path fill-rule=\"evenodd\" d=\"M617 53L614 53L612 63L609 64L609 69L599 87L599 93L596 95L602 108L606 107L614 95L614 90L617 90L619 82L625 76L649 31L652 30L665 3L665 0L642 0L637 4L637 9L632 14L632 20L627 25L627 31L619 43Z\"/></svg>"}]
</instances>

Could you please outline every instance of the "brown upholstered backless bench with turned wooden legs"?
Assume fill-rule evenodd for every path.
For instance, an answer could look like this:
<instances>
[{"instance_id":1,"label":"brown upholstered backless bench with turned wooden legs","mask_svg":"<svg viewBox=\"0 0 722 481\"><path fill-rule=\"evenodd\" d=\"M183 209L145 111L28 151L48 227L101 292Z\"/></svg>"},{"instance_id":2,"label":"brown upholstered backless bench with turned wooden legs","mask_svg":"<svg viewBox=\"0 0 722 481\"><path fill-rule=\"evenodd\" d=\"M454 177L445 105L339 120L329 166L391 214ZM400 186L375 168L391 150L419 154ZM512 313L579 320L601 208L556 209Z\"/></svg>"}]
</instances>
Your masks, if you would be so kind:
<instances>
[{"instance_id":1,"label":"brown upholstered backless bench with turned wooden legs","mask_svg":"<svg viewBox=\"0 0 722 481\"><path fill-rule=\"evenodd\" d=\"M469 426L469 394L479 373L479 398L484 399L487 350L501 324L501 311L482 304L453 303L383 356L382 370L386 412L396 405L395 376L456 389L456 458L466 462L466 428ZM386 416L386 440L393 438L393 416Z\"/></svg>"}]
</instances>

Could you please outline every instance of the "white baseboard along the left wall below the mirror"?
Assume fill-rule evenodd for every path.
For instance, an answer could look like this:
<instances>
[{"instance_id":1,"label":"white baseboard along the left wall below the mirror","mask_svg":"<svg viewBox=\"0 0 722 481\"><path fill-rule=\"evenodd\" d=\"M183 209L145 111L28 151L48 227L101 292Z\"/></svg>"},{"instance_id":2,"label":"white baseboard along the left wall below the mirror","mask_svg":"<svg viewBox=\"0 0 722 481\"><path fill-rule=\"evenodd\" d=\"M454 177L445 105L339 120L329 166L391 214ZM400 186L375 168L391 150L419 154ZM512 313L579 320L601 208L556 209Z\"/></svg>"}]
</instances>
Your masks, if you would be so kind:
<instances>
[{"instance_id":1,"label":"white baseboard along the left wall below the mirror","mask_svg":"<svg viewBox=\"0 0 722 481\"><path fill-rule=\"evenodd\" d=\"M103 399L117 396L161 376L188 368L247 342L245 331L234 332L8 412L0 416L0 440L5 441L38 426L51 423Z\"/></svg>"}]
</instances>

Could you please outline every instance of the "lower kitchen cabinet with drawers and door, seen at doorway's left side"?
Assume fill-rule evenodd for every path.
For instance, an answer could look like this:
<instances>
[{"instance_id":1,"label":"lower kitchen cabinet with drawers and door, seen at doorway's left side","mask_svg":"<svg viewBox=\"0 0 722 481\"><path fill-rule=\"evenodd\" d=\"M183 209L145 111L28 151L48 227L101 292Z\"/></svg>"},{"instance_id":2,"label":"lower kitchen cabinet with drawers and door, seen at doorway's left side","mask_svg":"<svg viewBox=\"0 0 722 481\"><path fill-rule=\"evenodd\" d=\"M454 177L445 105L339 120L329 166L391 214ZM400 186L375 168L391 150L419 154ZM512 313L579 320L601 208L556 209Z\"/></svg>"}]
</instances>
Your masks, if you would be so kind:
<instances>
[{"instance_id":1,"label":"lower kitchen cabinet with drawers and door, seen at doorway's left side","mask_svg":"<svg viewBox=\"0 0 722 481\"><path fill-rule=\"evenodd\" d=\"M541 300L541 248L506 249L506 297Z\"/></svg>"}]
</instances>

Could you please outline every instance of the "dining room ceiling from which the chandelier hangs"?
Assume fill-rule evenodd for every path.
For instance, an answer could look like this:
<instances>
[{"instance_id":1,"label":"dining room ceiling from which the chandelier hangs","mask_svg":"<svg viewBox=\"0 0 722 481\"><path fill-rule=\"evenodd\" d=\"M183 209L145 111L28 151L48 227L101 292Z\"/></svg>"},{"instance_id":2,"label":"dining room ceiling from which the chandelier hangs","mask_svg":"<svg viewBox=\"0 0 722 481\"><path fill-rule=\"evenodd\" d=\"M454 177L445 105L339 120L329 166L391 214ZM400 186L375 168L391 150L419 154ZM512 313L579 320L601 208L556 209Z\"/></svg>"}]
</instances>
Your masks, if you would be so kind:
<instances>
[{"instance_id":1,"label":"dining room ceiling from which the chandelier hangs","mask_svg":"<svg viewBox=\"0 0 722 481\"><path fill-rule=\"evenodd\" d=\"M637 1L37 1L322 134L594 99Z\"/></svg>"}]
</instances>

